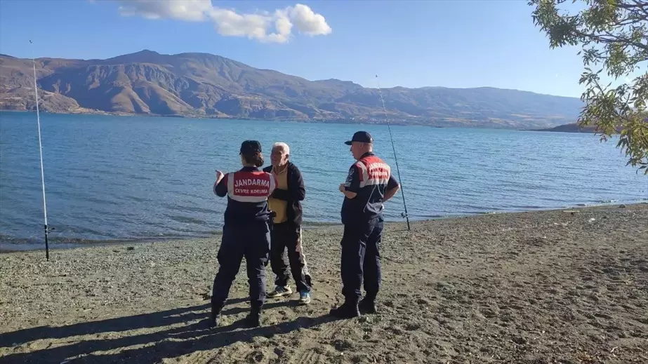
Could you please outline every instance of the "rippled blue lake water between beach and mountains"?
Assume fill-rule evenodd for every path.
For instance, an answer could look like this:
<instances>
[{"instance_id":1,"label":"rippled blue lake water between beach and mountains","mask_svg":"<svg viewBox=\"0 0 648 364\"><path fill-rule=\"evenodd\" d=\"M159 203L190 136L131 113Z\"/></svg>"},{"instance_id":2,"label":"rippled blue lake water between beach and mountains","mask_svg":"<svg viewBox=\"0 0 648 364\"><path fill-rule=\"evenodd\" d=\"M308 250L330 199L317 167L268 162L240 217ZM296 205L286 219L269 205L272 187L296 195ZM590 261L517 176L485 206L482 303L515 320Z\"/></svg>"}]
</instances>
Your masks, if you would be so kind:
<instances>
[{"instance_id":1,"label":"rippled blue lake water between beach and mountains","mask_svg":"<svg viewBox=\"0 0 648 364\"><path fill-rule=\"evenodd\" d=\"M239 165L242 140L291 146L308 224L339 222L348 140L368 130L396 171L386 126L41 114L48 224L54 243L209 236L226 198L216 168ZM648 198L616 142L591 134L392 127L411 220ZM35 113L0 113L0 241L42 241ZM402 195L385 204L402 221Z\"/></svg>"}]
</instances>

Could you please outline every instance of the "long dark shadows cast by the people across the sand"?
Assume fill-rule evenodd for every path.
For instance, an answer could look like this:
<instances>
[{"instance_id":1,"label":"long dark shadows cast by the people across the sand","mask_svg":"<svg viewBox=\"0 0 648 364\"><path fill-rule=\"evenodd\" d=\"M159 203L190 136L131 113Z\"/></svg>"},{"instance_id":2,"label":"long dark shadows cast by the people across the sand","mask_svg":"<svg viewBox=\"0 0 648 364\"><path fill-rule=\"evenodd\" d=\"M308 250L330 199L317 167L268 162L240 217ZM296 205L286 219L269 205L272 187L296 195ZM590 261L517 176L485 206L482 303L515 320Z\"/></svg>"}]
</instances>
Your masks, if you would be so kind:
<instances>
[{"instance_id":1,"label":"long dark shadows cast by the people across the sand","mask_svg":"<svg viewBox=\"0 0 648 364\"><path fill-rule=\"evenodd\" d=\"M228 304L242 301L244 300L234 299ZM291 306L291 304L293 303L273 302L265 304L264 309ZM6 332L0 334L0 347L7 348L38 339L65 339L66 337L70 337L70 342L74 344L62 343L60 346L50 345L45 349L36 349L29 353L10 353L1 357L0 363L156 363L162 358L178 358L195 351L213 350L235 342L247 342L253 337L272 337L333 321L330 316L299 317L294 321L260 328L246 328L244 321L237 321L220 328L209 328L207 321L209 312L205 311L206 309L209 309L209 304L60 327L39 326ZM233 307L223 310L223 315L239 314L244 311L247 309ZM165 329L167 326L196 320L200 321ZM122 333L115 339L99 338L115 337L117 336L115 332L156 328L161 330L136 335ZM91 336L81 342L72 339L80 335ZM133 349L130 346L140 347ZM108 353L95 354L98 351L108 351ZM70 361L67 361L68 358L71 358Z\"/></svg>"}]
</instances>

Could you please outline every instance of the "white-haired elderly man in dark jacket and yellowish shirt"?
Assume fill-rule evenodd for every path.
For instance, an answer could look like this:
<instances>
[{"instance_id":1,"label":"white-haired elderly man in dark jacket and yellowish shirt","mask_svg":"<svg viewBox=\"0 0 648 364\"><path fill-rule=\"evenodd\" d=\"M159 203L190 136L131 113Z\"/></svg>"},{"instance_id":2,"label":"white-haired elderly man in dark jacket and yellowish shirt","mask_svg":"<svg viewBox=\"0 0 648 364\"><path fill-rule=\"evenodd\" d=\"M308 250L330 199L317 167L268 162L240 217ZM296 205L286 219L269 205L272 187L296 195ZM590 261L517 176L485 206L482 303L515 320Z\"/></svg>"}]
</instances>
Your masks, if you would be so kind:
<instances>
[{"instance_id":1,"label":"white-haired elderly man in dark jacket and yellowish shirt","mask_svg":"<svg viewBox=\"0 0 648 364\"><path fill-rule=\"evenodd\" d=\"M299 292L299 303L310 303L311 280L306 265L301 239L302 207L306 196L304 180L297 166L291 161L290 148L284 142L272 146L270 161L272 166L263 168L264 172L277 177L277 188L267 200L270 210L277 215L270 237L270 266L277 275L275 290L268 292L267 297L283 297L292 294L288 283L290 273L295 279ZM284 259L284 250L288 250L288 264Z\"/></svg>"}]
</instances>

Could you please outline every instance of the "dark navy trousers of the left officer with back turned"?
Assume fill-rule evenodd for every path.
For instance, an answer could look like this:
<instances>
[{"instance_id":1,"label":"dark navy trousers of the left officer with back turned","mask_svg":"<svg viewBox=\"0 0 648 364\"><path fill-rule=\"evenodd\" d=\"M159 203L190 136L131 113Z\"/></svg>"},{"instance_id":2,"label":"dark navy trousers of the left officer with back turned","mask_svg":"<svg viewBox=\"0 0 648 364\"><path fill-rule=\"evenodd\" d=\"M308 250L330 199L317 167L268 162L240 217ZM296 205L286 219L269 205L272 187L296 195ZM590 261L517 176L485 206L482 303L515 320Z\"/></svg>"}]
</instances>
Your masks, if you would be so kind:
<instances>
[{"instance_id":1,"label":"dark navy trousers of the left officer with back turned","mask_svg":"<svg viewBox=\"0 0 648 364\"><path fill-rule=\"evenodd\" d=\"M218 249L218 273L213 280L211 304L222 309L230 288L245 257L250 303L260 309L265 302L265 267L270 253L270 227L266 222L223 227L223 240Z\"/></svg>"}]
</instances>

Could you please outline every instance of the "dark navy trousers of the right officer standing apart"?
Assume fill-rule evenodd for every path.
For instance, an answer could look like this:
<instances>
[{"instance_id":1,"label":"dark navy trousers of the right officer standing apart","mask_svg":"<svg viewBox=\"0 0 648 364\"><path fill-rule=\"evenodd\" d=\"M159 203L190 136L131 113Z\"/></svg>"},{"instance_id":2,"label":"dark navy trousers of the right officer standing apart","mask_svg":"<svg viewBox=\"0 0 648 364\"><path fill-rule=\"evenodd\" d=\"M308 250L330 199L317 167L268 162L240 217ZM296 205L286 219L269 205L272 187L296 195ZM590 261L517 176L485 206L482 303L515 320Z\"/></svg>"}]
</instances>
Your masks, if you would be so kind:
<instances>
[{"instance_id":1,"label":"dark navy trousers of the right officer standing apart","mask_svg":"<svg viewBox=\"0 0 648 364\"><path fill-rule=\"evenodd\" d=\"M362 295L364 281L366 298L376 299L381 287L380 244L383 235L383 217L360 224L345 224L342 236L342 294L357 302Z\"/></svg>"}]
</instances>

